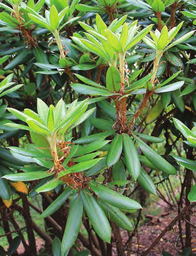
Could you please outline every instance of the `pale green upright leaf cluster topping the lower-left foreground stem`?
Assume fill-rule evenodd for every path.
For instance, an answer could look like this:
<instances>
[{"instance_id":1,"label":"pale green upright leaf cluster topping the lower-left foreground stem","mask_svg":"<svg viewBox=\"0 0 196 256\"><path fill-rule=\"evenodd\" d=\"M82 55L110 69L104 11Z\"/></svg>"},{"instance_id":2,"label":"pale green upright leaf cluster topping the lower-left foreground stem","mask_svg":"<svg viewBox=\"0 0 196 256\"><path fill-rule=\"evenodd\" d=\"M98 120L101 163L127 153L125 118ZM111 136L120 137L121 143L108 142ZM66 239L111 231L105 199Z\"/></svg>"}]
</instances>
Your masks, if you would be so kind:
<instances>
[{"instance_id":1,"label":"pale green upright leaf cluster topping the lower-left foreground stem","mask_svg":"<svg viewBox=\"0 0 196 256\"><path fill-rule=\"evenodd\" d=\"M24 113L13 108L8 111L15 115L19 120L28 124L22 127L18 124L7 124L16 129L24 129L30 132L41 134L45 137L58 136L64 138L65 133L72 130L78 124L81 124L86 118L93 113L95 109L90 109L86 113L88 100L78 102L77 100L67 108L65 102L60 99L56 106L49 107L38 98L37 112L31 109L24 109Z\"/></svg>"}]
</instances>

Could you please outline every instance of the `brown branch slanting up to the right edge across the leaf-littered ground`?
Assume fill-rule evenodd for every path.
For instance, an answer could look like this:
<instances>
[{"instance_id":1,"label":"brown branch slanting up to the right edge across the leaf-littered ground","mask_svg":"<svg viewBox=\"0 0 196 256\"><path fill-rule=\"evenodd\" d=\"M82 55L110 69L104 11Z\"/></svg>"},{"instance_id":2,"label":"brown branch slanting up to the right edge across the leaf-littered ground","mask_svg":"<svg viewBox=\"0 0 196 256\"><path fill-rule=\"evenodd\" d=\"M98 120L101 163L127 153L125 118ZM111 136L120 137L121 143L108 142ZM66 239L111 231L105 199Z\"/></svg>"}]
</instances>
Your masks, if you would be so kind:
<instances>
[{"instance_id":1,"label":"brown branch slanting up to the right edge across the leaf-littered ground","mask_svg":"<svg viewBox=\"0 0 196 256\"><path fill-rule=\"evenodd\" d=\"M190 204L188 207L185 207L179 215L177 215L171 222L170 224L161 232L161 234L155 239L155 241L147 248L146 251L144 251L143 256L147 256L150 251L155 247L155 245L160 241L160 239L167 233L167 231L170 231L172 227L175 225L177 221L179 221L183 216L187 213L190 212L190 210L196 206L196 202Z\"/></svg>"}]
</instances>

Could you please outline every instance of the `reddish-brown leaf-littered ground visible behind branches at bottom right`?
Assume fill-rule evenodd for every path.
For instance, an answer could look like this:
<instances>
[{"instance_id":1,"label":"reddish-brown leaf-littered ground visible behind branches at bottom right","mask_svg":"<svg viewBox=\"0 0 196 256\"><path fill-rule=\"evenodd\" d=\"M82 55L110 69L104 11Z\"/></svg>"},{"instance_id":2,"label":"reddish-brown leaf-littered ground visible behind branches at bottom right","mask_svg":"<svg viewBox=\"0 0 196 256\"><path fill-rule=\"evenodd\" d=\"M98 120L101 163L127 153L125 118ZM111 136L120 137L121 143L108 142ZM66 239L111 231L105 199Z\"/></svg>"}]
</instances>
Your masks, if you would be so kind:
<instances>
[{"instance_id":1,"label":"reddish-brown leaf-littered ground visible behind branches at bottom right","mask_svg":"<svg viewBox=\"0 0 196 256\"><path fill-rule=\"evenodd\" d=\"M143 224L138 228L136 236L132 240L132 248L130 256L142 256L144 252L158 237L158 235L170 224L170 222L177 216L177 209L165 208L165 203L159 201L162 206L157 206L156 203L151 204L150 209L156 209L156 212L161 212L156 215L145 214L145 220ZM195 209L194 209L195 210ZM185 244L185 221L181 221L182 225L182 238ZM191 216L191 234L192 234L192 253L196 254L196 214ZM122 230L122 241L126 243L128 239L127 232ZM148 256L162 256L162 252L166 251L172 256L177 256L181 252L181 243L179 236L179 224L178 222L172 230L168 231L163 238L157 243L157 245L151 250ZM116 249L114 248L113 256L118 256Z\"/></svg>"}]
</instances>

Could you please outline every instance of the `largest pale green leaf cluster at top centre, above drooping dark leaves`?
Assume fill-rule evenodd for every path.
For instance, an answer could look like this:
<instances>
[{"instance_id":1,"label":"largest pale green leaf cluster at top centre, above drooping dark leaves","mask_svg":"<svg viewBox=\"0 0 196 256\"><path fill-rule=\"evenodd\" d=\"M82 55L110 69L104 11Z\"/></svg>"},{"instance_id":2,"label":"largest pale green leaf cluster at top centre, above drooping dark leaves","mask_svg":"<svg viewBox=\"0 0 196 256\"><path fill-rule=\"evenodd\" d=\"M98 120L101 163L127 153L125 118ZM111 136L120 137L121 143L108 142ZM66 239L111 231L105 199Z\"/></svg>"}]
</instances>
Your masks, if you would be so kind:
<instances>
[{"instance_id":1,"label":"largest pale green leaf cluster at top centre, above drooping dark leaves","mask_svg":"<svg viewBox=\"0 0 196 256\"><path fill-rule=\"evenodd\" d=\"M127 15L106 26L102 18L96 15L96 24L94 27L86 23L79 22L86 38L80 34L73 34L73 41L78 44L83 51L97 54L104 59L110 66L116 66L117 54L125 54L132 46L137 44L151 30L152 25L147 26L139 33L137 20L125 23Z\"/></svg>"}]
</instances>

